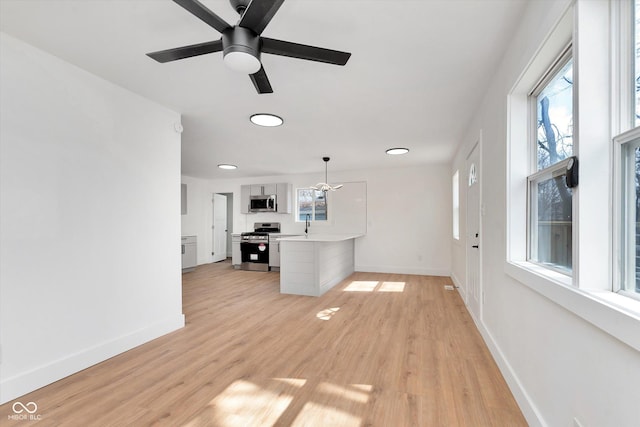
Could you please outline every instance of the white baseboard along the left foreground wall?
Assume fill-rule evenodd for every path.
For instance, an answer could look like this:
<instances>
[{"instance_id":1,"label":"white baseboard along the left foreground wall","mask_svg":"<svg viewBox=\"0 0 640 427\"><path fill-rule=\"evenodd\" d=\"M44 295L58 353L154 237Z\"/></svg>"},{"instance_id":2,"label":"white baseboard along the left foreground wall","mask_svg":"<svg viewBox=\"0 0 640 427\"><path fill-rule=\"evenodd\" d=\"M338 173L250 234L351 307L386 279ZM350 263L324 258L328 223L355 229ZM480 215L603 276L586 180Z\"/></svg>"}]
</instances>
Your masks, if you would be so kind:
<instances>
[{"instance_id":1,"label":"white baseboard along the left foreground wall","mask_svg":"<svg viewBox=\"0 0 640 427\"><path fill-rule=\"evenodd\" d=\"M127 350L184 327L184 314L54 360L0 382L0 404L9 402ZM36 402L37 404L38 402Z\"/></svg>"}]
</instances>

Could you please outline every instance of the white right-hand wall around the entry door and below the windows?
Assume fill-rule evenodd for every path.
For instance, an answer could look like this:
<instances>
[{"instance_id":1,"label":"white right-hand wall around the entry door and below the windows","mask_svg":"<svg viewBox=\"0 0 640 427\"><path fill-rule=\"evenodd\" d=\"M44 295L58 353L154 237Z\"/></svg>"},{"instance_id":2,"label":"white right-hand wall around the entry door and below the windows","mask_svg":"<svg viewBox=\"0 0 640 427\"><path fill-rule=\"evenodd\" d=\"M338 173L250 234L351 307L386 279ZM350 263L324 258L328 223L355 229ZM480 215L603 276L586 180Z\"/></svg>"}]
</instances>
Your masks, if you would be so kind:
<instances>
[{"instance_id":1,"label":"white right-hand wall around the entry door and below the windows","mask_svg":"<svg viewBox=\"0 0 640 427\"><path fill-rule=\"evenodd\" d=\"M530 425L568 427L576 418L584 426L637 426L640 354L505 274L507 94L567 3L530 2L450 173L461 170L464 203L464 160L482 133L485 303L479 327ZM463 286L465 217L461 207L452 266Z\"/></svg>"}]
</instances>

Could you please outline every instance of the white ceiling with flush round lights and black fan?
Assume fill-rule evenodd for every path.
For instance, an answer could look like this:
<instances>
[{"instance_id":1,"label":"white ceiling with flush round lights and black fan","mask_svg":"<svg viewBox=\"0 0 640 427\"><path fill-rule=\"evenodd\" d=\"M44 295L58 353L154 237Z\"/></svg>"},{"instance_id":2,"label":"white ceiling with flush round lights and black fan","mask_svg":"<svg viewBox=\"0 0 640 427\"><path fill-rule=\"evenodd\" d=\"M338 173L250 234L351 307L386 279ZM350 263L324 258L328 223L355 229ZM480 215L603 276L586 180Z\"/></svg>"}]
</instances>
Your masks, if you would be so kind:
<instances>
[{"instance_id":1,"label":"white ceiling with flush round lights and black fan","mask_svg":"<svg viewBox=\"0 0 640 427\"><path fill-rule=\"evenodd\" d=\"M256 0L257 1L257 0ZM230 24L228 0L201 0ZM219 33L170 0L0 0L0 29L182 114L182 172L232 178L451 160L526 0L287 0L265 37L352 53L346 66L263 55L258 95L221 53L145 53ZM284 118L260 128L256 112ZM408 147L404 156L385 149ZM238 165L224 171L219 163Z\"/></svg>"}]
</instances>

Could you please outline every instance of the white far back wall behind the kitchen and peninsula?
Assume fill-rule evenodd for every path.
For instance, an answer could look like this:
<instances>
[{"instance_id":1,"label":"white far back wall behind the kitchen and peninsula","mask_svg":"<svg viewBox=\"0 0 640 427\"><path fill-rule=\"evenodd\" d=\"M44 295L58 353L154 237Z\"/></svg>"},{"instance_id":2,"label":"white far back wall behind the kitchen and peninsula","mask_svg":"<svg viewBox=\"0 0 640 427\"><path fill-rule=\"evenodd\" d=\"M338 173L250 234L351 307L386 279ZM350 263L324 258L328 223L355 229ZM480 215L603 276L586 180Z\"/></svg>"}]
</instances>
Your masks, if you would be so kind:
<instances>
[{"instance_id":1,"label":"white far back wall behind the kitchen and peninsula","mask_svg":"<svg viewBox=\"0 0 640 427\"><path fill-rule=\"evenodd\" d=\"M182 182L189 186L189 203L193 197L197 207L183 215L182 232L197 235L199 242L202 239L198 263L211 262L207 254L211 253L212 193L234 193L234 232L251 231L254 222L278 221L284 233L302 234L304 222L295 222L293 214L241 214L240 186L290 182L295 189L315 184L317 178L317 174L309 174L207 181L183 176ZM366 236L356 241L356 270L450 274L451 177L447 165L338 171L330 178L335 183L366 183ZM343 215L349 214L346 209ZM337 218L341 212L332 215ZM313 223L310 228L310 233L349 231L355 232L343 229L338 219L330 224Z\"/></svg>"}]
</instances>

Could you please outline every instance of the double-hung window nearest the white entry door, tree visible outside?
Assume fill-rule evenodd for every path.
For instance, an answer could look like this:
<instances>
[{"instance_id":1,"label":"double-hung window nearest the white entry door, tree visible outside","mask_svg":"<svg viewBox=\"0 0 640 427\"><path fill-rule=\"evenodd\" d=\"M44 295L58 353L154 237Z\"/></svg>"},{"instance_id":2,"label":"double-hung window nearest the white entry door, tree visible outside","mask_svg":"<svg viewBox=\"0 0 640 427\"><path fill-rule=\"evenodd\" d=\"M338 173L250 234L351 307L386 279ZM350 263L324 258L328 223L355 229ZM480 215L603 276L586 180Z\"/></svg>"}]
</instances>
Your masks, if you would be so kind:
<instances>
[{"instance_id":1,"label":"double-hung window nearest the white entry door, tree visible outside","mask_svg":"<svg viewBox=\"0 0 640 427\"><path fill-rule=\"evenodd\" d=\"M573 192L565 182L568 159L573 156L570 53L567 48L532 91L535 172L528 177L528 260L566 274L572 271L573 252Z\"/></svg>"}]
</instances>

